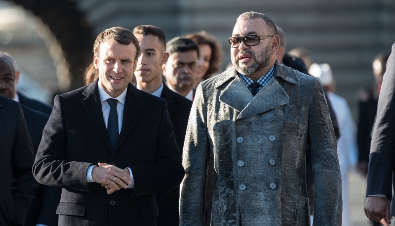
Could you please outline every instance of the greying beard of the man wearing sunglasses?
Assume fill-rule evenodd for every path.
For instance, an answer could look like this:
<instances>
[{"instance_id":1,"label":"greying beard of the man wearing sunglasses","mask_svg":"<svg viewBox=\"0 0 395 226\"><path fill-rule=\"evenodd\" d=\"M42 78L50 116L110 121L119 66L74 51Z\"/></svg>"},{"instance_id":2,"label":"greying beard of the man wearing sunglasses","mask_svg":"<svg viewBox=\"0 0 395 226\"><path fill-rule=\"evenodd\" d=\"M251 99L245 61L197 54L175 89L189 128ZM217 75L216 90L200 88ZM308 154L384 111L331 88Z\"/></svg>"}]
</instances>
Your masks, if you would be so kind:
<instances>
[{"instance_id":1,"label":"greying beard of the man wearing sunglasses","mask_svg":"<svg viewBox=\"0 0 395 226\"><path fill-rule=\"evenodd\" d=\"M237 70L238 73L242 74L242 75L250 75L253 74L259 70L261 70L262 68L268 66L270 64L270 57L271 57L271 46L266 45L258 54L258 57L256 57L255 53L249 49L243 49L240 50L238 53L247 53L250 54L252 56L252 58L254 59L254 63L251 66L248 67L240 67L239 65L239 60L234 58L231 55L231 59L232 59L232 64L235 67L235 69ZM237 56L236 56L237 57Z\"/></svg>"}]
</instances>

